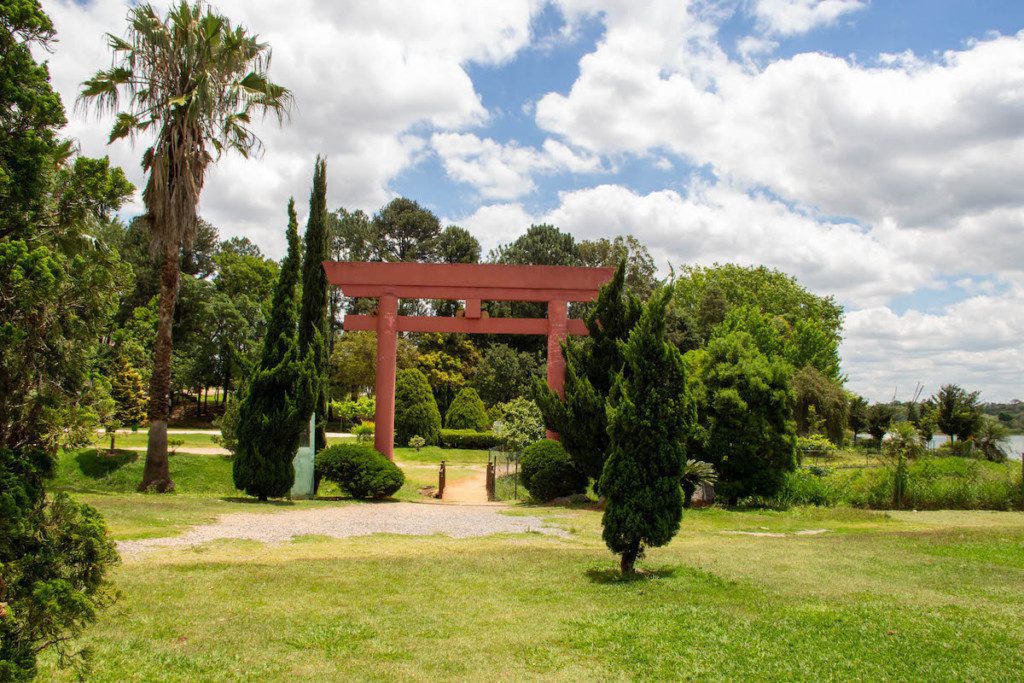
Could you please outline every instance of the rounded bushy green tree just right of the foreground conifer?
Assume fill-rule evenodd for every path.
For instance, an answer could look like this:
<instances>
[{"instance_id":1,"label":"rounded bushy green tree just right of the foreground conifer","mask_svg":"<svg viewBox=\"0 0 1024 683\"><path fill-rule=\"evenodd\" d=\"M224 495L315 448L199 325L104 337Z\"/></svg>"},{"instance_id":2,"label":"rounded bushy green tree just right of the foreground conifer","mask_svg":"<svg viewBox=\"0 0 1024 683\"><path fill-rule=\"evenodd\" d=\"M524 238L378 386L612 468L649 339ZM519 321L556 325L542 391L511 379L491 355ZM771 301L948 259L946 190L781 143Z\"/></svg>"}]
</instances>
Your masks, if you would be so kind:
<instances>
[{"instance_id":1,"label":"rounded bushy green tree just right of the foreground conifer","mask_svg":"<svg viewBox=\"0 0 1024 683\"><path fill-rule=\"evenodd\" d=\"M766 357L745 332L714 337L707 351L690 354L703 385L692 456L715 465L732 504L773 496L797 464L790 365Z\"/></svg>"}]
</instances>

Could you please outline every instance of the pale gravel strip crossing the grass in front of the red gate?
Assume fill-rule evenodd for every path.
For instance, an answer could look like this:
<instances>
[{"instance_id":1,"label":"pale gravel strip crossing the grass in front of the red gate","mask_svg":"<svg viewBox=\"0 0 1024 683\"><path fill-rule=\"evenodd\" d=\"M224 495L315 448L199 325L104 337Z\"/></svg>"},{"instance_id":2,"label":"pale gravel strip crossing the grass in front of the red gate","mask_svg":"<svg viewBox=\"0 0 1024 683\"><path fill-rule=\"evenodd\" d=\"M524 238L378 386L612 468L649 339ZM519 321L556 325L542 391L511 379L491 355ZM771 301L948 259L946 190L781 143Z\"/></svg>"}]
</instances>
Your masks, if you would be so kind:
<instances>
[{"instance_id":1,"label":"pale gravel strip crossing the grass in front of the red gate","mask_svg":"<svg viewBox=\"0 0 1024 683\"><path fill-rule=\"evenodd\" d=\"M118 543L118 550L123 554L132 555L155 547L198 546L215 539L285 543L297 536L345 539L371 533L402 536L443 533L456 539L465 539L492 533L527 531L540 531L558 537L569 536L564 529L546 525L538 517L503 515L500 509L494 507L379 503L288 512L232 513L221 515L212 524L194 526L181 536L121 541Z\"/></svg>"}]
</instances>

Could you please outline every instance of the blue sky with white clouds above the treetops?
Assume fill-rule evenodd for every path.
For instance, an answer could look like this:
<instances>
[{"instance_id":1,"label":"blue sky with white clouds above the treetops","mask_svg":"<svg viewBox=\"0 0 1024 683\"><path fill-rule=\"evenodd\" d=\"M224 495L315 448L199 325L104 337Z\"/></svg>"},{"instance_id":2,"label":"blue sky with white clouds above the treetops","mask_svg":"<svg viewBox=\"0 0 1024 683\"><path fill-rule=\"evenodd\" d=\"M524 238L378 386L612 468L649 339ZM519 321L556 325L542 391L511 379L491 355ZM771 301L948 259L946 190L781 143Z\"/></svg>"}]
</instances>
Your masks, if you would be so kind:
<instances>
[{"instance_id":1,"label":"blue sky with white clouds above the treetops","mask_svg":"<svg viewBox=\"0 0 1024 683\"><path fill-rule=\"evenodd\" d=\"M161 2L156 3L160 6ZM75 112L123 0L43 0L83 154L141 185L145 140ZM331 208L415 199L484 252L531 223L633 234L663 273L765 264L846 310L847 386L1024 398L1024 2L222 0L295 96L202 215L284 252L313 159ZM138 198L127 208L139 210Z\"/></svg>"}]
</instances>

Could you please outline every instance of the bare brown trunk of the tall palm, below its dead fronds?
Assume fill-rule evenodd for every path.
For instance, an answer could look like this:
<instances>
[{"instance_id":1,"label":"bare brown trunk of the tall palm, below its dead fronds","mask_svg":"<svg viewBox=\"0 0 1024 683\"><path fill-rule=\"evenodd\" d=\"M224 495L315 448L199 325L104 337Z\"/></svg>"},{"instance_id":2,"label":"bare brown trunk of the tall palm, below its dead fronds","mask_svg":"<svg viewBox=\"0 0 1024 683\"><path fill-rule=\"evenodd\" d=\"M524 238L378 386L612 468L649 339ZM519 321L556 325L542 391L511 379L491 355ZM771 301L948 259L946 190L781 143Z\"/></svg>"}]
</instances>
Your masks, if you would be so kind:
<instances>
[{"instance_id":1,"label":"bare brown trunk of the tall palm, below its dead fronds","mask_svg":"<svg viewBox=\"0 0 1024 683\"><path fill-rule=\"evenodd\" d=\"M176 245L168 245L164 248L164 263L160 267L157 344L153 354L153 379L150 381L150 438L139 490L174 490L167 461L167 420L171 413L171 327L177 298L178 250Z\"/></svg>"}]
</instances>

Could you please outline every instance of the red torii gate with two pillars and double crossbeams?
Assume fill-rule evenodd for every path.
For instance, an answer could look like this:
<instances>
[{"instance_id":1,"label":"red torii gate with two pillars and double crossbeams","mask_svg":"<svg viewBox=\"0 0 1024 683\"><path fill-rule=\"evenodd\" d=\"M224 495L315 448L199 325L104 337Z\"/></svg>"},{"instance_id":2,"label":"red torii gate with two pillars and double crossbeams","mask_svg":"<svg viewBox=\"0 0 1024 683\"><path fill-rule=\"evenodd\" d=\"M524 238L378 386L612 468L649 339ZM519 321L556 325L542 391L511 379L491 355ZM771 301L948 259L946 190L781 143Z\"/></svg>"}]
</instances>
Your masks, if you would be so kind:
<instances>
[{"instance_id":1,"label":"red torii gate with two pillars and double crossbeams","mask_svg":"<svg viewBox=\"0 0 1024 683\"><path fill-rule=\"evenodd\" d=\"M548 336L548 386L563 392L566 335L587 335L568 317L569 301L593 301L614 268L466 263L325 261L328 282L345 296L378 300L377 315L346 315L345 330L377 333L377 412L374 445L394 459L395 346L399 332L463 332ZM465 301L462 317L398 315L398 299ZM481 301L542 301L547 318L487 317Z\"/></svg>"}]
</instances>

